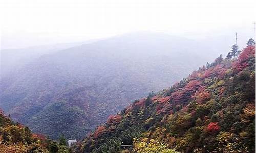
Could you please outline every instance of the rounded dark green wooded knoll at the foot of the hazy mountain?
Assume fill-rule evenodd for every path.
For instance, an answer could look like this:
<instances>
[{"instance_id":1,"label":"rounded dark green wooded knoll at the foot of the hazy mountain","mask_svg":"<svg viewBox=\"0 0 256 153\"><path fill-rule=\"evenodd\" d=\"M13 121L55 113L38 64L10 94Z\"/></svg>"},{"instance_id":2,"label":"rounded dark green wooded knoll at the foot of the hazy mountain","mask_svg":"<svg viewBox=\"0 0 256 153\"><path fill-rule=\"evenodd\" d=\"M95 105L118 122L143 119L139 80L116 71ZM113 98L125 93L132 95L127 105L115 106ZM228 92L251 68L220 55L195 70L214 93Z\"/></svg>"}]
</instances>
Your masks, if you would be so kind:
<instances>
[{"instance_id":1,"label":"rounded dark green wooded knoll at the foot of the hazy mountain","mask_svg":"<svg viewBox=\"0 0 256 153\"><path fill-rule=\"evenodd\" d=\"M71 107L65 101L50 104L29 120L33 131L48 134L51 139L59 139L63 135L68 139L81 138L80 134L90 131L88 115L78 107ZM79 120L79 122L77 121ZM54 130L53 130L54 129Z\"/></svg>"}]
</instances>

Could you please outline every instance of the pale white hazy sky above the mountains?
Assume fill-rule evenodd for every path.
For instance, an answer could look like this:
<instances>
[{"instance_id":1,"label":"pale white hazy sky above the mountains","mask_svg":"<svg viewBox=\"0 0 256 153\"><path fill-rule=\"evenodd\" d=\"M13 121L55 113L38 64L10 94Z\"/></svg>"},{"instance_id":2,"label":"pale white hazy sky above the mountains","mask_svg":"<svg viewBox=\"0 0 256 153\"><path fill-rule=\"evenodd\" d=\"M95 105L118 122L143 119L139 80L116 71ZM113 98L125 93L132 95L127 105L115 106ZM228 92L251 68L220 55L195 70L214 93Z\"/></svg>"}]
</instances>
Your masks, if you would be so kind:
<instances>
[{"instance_id":1,"label":"pale white hazy sky above the mountains","mask_svg":"<svg viewBox=\"0 0 256 153\"><path fill-rule=\"evenodd\" d=\"M152 31L200 34L252 30L255 0L0 0L2 48Z\"/></svg>"}]
</instances>

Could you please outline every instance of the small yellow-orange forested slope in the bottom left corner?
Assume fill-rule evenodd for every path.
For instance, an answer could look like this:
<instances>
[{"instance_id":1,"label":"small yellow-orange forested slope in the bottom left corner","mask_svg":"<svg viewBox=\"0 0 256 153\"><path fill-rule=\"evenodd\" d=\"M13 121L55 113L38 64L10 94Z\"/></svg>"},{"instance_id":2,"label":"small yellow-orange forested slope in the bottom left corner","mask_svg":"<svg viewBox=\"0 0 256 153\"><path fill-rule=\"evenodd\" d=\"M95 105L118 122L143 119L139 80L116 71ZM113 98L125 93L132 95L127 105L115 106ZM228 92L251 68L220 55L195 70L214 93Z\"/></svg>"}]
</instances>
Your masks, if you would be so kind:
<instances>
[{"instance_id":1,"label":"small yellow-orange forested slope in the bottom left corner","mask_svg":"<svg viewBox=\"0 0 256 153\"><path fill-rule=\"evenodd\" d=\"M64 139L63 139L64 140ZM0 152L1 153L69 153L65 140L61 143L34 134L18 122L13 122L0 109Z\"/></svg>"}]
</instances>

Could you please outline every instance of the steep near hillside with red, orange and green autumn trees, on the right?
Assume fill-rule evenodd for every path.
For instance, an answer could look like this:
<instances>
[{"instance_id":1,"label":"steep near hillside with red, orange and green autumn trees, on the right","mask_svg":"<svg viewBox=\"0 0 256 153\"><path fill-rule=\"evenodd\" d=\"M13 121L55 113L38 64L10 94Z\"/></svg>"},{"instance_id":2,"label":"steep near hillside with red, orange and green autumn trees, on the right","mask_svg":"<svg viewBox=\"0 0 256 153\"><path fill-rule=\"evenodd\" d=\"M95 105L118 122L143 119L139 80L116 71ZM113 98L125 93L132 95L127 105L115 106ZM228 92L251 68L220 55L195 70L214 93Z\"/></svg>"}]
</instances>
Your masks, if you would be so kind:
<instances>
[{"instance_id":1,"label":"steep near hillside with red, orange and green autumn trees, on the right","mask_svg":"<svg viewBox=\"0 0 256 153\"><path fill-rule=\"evenodd\" d=\"M255 42L135 100L76 152L255 152Z\"/></svg>"}]
</instances>

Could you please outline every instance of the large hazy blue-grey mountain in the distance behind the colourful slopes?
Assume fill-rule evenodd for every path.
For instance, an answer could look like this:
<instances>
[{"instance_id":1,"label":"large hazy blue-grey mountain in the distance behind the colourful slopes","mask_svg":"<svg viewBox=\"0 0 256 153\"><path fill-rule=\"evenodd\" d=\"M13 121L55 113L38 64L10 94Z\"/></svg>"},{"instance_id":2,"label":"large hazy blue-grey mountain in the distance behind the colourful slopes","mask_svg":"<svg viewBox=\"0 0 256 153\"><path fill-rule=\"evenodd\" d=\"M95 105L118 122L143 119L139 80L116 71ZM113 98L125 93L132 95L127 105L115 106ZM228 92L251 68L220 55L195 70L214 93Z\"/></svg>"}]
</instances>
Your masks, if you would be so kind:
<instances>
[{"instance_id":1,"label":"large hazy blue-grey mountain in the distance behind the colourful slopes","mask_svg":"<svg viewBox=\"0 0 256 153\"><path fill-rule=\"evenodd\" d=\"M47 52L3 75L0 107L33 132L79 139L132 100L212 60L214 48L183 37L132 33Z\"/></svg>"}]
</instances>

